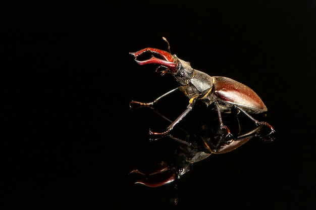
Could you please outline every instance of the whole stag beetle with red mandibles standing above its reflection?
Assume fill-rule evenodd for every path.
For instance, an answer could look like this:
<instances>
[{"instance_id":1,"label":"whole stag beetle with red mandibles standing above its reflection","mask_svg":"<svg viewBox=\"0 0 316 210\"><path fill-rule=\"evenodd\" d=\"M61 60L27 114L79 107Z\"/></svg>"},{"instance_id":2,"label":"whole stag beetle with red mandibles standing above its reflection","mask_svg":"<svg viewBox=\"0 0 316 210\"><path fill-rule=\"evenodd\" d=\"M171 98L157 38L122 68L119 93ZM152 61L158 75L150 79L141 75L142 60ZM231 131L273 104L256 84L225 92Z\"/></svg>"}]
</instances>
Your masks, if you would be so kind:
<instances>
[{"instance_id":1,"label":"whole stag beetle with red mandibles standing above its reflection","mask_svg":"<svg viewBox=\"0 0 316 210\"><path fill-rule=\"evenodd\" d=\"M169 42L165 37L163 37L163 39L167 42L170 52ZM145 53L151 53L160 56L161 58L156 58L152 55L150 59L144 61L137 60L139 56ZM168 53L161 49L147 47L130 54L134 56L135 61L139 65L159 65L155 70L157 73L160 73L161 75L170 73L176 78L179 84L179 87L166 92L152 102L132 100L129 104L130 108L132 108L132 104L152 106L161 98L178 89L189 98L189 104L186 110L173 121L164 132L153 132L149 129L150 135L168 135L175 125L177 125L193 109L197 100L203 101L206 106L209 106L218 112L220 129L226 132L226 137L228 139L231 138L232 134L229 128L224 125L221 113L232 113L233 110L236 110L237 113L241 112L246 115L256 126L268 126L271 131L268 135L275 133L274 128L270 124L258 121L250 116L250 114L267 112L268 109L260 97L248 86L227 77L209 76L204 72L193 69L189 62L183 61L176 55L172 55L171 52Z\"/></svg>"}]
</instances>

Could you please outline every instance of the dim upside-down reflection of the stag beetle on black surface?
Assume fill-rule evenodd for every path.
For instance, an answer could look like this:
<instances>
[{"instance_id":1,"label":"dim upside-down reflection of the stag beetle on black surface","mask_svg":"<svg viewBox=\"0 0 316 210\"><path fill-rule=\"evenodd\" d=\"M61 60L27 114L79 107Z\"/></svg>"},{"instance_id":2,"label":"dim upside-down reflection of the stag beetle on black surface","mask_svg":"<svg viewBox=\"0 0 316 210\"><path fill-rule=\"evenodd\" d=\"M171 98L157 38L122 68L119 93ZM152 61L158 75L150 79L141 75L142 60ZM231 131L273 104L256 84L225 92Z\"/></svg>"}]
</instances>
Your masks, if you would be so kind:
<instances>
[{"instance_id":1,"label":"dim upside-down reflection of the stag beetle on black surface","mask_svg":"<svg viewBox=\"0 0 316 210\"><path fill-rule=\"evenodd\" d=\"M170 138L180 142L173 161L155 163L153 164L155 167L151 170L134 169L130 174L139 176L136 184L160 187L175 182L188 173L194 163L205 160L212 154L230 152L254 137L265 142L272 142L275 139L275 133L271 133L270 129L267 130L266 126L256 126L247 120L244 116L225 116L225 121L232 128L233 135L230 138L227 138L219 128L218 119L202 123L199 130L187 133L185 139L169 134Z\"/></svg>"}]
</instances>

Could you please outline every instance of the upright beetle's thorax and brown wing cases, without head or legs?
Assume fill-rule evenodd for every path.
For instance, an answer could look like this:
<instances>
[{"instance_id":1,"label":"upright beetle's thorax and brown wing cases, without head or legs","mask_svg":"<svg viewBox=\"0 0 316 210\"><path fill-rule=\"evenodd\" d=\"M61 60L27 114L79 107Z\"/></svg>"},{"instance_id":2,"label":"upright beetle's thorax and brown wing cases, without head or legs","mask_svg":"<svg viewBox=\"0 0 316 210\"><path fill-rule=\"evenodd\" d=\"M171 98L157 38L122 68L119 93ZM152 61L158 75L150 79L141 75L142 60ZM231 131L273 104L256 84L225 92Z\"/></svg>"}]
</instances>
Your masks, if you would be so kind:
<instances>
[{"instance_id":1,"label":"upright beetle's thorax and brown wing cases, without head or legs","mask_svg":"<svg viewBox=\"0 0 316 210\"><path fill-rule=\"evenodd\" d=\"M268 111L261 98L248 86L228 77L209 76L194 70L191 79L179 89L189 98L197 97L209 106L219 102L220 112L231 113L233 105L244 108L250 114Z\"/></svg>"}]
</instances>

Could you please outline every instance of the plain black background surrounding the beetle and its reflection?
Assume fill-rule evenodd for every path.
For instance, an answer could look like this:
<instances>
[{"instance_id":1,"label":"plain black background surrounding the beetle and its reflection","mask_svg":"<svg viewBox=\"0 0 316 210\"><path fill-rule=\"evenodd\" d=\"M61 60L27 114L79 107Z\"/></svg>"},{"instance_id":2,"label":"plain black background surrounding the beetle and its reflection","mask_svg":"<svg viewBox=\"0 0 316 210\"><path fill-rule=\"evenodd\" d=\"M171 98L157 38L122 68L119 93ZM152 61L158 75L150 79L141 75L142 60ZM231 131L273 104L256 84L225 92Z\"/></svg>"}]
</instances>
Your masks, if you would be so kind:
<instances>
[{"instance_id":1,"label":"plain black background surrounding the beetle and its reflection","mask_svg":"<svg viewBox=\"0 0 316 210\"><path fill-rule=\"evenodd\" d=\"M2 209L314 209L315 1L2 1ZM167 50L265 101L273 143L196 163L174 185L129 171L169 159L169 123L129 101L177 86L129 52ZM159 103L175 119L187 98ZM195 113L195 114L194 114ZM190 113L182 126L193 124Z\"/></svg>"}]
</instances>

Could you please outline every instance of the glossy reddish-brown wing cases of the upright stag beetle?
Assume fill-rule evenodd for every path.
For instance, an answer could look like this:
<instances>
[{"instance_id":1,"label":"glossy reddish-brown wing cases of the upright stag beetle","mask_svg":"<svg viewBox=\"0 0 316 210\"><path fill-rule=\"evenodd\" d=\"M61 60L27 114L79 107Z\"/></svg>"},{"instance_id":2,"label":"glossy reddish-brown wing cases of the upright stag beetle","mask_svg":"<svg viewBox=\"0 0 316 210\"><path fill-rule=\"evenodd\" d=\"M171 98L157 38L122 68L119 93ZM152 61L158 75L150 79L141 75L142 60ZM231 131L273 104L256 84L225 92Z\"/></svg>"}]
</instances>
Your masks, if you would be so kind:
<instances>
[{"instance_id":1,"label":"glossy reddish-brown wing cases of the upright stag beetle","mask_svg":"<svg viewBox=\"0 0 316 210\"><path fill-rule=\"evenodd\" d=\"M249 113L266 112L261 98L248 86L227 77L213 77L214 94L227 103L246 108Z\"/></svg>"}]
</instances>

